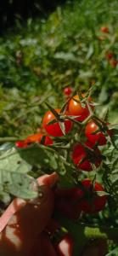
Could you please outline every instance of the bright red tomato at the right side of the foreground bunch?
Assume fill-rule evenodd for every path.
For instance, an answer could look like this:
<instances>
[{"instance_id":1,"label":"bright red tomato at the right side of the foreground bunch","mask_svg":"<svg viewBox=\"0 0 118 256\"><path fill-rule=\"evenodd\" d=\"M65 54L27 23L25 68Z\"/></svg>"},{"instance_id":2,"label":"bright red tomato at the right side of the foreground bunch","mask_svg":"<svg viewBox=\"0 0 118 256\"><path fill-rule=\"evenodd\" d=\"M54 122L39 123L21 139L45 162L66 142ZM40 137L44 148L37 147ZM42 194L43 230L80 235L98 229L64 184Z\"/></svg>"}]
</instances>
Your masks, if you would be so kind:
<instances>
[{"instance_id":1,"label":"bright red tomato at the right side of the foreground bunch","mask_svg":"<svg viewBox=\"0 0 118 256\"><path fill-rule=\"evenodd\" d=\"M95 131L98 131L97 133L93 134ZM88 141L95 144L98 143L98 145L102 146L106 144L106 137L104 136L104 133L102 131L99 131L98 125L96 125L93 120L87 123L85 134L87 136Z\"/></svg>"}]
</instances>

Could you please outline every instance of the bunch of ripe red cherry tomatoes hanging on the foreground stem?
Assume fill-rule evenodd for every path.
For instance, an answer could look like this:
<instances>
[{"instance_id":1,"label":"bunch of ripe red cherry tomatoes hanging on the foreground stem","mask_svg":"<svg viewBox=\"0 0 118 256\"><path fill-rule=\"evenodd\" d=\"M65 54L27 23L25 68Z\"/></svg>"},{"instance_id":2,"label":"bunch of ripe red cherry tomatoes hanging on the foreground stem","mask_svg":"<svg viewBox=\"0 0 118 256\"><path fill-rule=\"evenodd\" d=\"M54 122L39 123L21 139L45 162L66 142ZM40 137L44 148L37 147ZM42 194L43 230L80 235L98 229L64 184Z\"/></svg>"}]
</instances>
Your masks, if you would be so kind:
<instances>
[{"instance_id":1,"label":"bunch of ripe red cherry tomatoes hanging on the foreground stem","mask_svg":"<svg viewBox=\"0 0 118 256\"><path fill-rule=\"evenodd\" d=\"M69 95L71 90L68 88L65 92ZM102 164L99 147L107 143L108 137L111 137L111 131L109 131L109 124L96 118L93 112L94 104L90 96L86 94L70 96L65 109L50 107L45 113L42 119L42 132L28 136L25 140L16 142L15 145L26 148L31 143L42 143L44 146L51 147L55 137L67 135L76 123L84 139L71 144L70 160L76 167L76 173L97 170ZM97 213L104 209L107 201L106 195L99 195L99 191L104 191L103 186L88 178L81 180L71 189L59 189L57 186L53 189L55 209L72 219L79 218L81 212Z\"/></svg>"}]
</instances>

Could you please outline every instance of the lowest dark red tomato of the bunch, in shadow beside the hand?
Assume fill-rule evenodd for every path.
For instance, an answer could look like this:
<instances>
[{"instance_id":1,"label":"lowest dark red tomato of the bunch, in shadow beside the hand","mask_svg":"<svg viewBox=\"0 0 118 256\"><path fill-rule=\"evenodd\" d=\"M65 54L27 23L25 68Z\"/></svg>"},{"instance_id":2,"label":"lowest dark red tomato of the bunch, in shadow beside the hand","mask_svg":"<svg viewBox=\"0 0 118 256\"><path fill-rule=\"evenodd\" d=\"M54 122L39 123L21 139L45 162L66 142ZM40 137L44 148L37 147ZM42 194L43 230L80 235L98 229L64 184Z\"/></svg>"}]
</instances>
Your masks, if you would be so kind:
<instances>
[{"instance_id":1,"label":"lowest dark red tomato of the bunch, in shadow beside the hand","mask_svg":"<svg viewBox=\"0 0 118 256\"><path fill-rule=\"evenodd\" d=\"M81 211L86 213L97 213L104 209L107 201L106 195L98 195L98 191L104 191L100 183L92 184L90 179L85 179L81 182L83 190L80 189L79 196L82 198L80 201Z\"/></svg>"}]
</instances>

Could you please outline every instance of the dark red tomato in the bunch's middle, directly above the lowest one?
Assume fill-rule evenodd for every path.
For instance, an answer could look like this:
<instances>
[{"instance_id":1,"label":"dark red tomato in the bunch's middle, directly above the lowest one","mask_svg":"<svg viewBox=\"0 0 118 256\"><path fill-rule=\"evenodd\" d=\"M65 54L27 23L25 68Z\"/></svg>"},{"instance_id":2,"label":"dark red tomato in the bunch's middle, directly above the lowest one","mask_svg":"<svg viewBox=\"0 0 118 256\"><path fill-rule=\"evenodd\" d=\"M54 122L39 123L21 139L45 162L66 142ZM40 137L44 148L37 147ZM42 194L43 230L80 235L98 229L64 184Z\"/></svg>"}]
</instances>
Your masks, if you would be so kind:
<instances>
[{"instance_id":1,"label":"dark red tomato in the bunch's middle, directly above the lowest one","mask_svg":"<svg viewBox=\"0 0 118 256\"><path fill-rule=\"evenodd\" d=\"M90 142L86 142L85 145L88 148L93 148L93 144ZM98 156L98 159L94 159L94 165L98 167L101 163L100 159L100 151L98 148L95 149L96 156ZM85 159L86 158L86 159ZM85 160L84 160L85 159ZM81 143L78 143L74 146L73 152L72 152L72 160L74 161L75 165L78 167L78 169L81 169L83 171L90 172L93 170L92 161L90 160L90 156L87 153L86 148L81 145Z\"/></svg>"}]
</instances>

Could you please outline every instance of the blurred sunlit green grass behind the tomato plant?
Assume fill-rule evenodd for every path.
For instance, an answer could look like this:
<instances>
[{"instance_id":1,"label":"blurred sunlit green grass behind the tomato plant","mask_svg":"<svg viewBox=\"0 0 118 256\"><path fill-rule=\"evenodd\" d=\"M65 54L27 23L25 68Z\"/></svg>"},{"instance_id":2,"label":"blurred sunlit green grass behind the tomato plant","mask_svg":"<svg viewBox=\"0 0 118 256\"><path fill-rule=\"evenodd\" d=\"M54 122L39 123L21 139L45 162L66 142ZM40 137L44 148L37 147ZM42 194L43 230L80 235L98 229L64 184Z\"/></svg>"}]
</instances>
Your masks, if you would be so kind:
<instances>
[{"instance_id":1,"label":"blurred sunlit green grass behind the tomato plant","mask_svg":"<svg viewBox=\"0 0 118 256\"><path fill-rule=\"evenodd\" d=\"M62 106L66 86L93 86L98 113L118 121L118 65L106 58L118 61L117 0L6 1L1 14L0 137L36 132L44 102Z\"/></svg>"}]
</instances>

